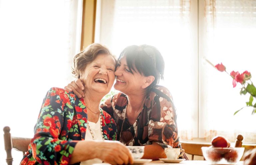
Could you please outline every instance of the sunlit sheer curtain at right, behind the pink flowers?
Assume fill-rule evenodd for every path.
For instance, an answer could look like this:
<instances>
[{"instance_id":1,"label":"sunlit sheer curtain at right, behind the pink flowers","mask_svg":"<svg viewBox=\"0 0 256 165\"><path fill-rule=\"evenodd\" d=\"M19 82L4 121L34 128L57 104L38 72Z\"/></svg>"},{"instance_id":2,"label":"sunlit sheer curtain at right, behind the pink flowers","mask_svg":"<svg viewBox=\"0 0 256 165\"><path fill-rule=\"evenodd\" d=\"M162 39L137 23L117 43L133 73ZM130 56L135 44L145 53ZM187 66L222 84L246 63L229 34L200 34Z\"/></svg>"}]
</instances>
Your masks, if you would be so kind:
<instances>
[{"instance_id":1,"label":"sunlit sheer curtain at right, behind the pink flowers","mask_svg":"<svg viewBox=\"0 0 256 165\"><path fill-rule=\"evenodd\" d=\"M241 84L235 88L232 78L206 63L223 63L226 70L252 74L256 79L255 38L256 1L205 0L200 48L200 111L199 136L207 139L223 135L231 141L244 135L244 142L256 142L256 119L252 108L244 108L248 95L240 96Z\"/></svg>"}]
</instances>

